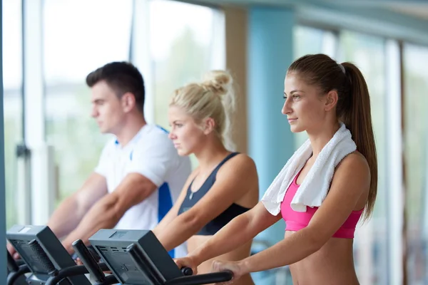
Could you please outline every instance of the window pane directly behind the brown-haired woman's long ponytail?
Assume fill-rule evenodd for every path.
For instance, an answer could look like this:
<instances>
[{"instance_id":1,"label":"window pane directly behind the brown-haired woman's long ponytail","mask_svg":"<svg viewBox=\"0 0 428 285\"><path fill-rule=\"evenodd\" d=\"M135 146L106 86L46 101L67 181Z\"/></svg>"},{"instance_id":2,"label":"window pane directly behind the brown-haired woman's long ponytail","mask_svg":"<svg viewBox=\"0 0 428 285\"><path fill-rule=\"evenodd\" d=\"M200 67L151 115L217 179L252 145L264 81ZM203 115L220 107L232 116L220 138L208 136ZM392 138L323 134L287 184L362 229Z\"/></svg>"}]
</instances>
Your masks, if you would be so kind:
<instances>
[{"instance_id":1,"label":"window pane directly behind the brown-haired woman's long ponytail","mask_svg":"<svg viewBox=\"0 0 428 285\"><path fill-rule=\"evenodd\" d=\"M370 91L372 123L377 146L378 187L374 213L357 228L355 265L361 280L387 284L386 89L384 39L344 31L340 34L340 62L351 61L362 71ZM399 126L397 126L399 128Z\"/></svg>"}]
</instances>

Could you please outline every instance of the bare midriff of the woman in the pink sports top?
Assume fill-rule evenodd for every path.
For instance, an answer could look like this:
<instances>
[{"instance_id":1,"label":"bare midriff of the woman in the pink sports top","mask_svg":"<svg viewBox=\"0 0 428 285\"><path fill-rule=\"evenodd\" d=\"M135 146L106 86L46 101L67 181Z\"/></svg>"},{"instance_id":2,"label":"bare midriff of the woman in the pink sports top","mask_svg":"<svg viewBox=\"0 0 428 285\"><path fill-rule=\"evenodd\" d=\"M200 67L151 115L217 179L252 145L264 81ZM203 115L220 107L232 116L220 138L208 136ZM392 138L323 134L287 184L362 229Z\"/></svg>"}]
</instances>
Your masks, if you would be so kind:
<instances>
[{"instance_id":1,"label":"bare midriff of the woman in the pink sports top","mask_svg":"<svg viewBox=\"0 0 428 285\"><path fill-rule=\"evenodd\" d=\"M285 237L294 232L285 232ZM353 239L332 237L319 251L290 265L295 285L359 285L352 254Z\"/></svg>"}]
</instances>

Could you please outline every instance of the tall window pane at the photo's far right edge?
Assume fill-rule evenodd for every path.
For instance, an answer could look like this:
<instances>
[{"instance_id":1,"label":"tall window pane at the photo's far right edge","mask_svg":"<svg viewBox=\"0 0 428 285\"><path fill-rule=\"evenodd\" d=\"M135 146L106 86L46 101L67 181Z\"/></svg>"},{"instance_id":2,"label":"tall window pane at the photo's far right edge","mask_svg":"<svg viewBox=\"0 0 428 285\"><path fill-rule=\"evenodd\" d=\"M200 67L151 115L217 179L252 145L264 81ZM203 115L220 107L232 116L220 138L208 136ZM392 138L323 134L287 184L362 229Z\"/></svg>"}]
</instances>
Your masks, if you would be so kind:
<instances>
[{"instance_id":1,"label":"tall window pane at the photo's far right edge","mask_svg":"<svg viewBox=\"0 0 428 285\"><path fill-rule=\"evenodd\" d=\"M428 282L428 73L426 63L428 63L427 47L404 46L407 284Z\"/></svg>"}]
</instances>

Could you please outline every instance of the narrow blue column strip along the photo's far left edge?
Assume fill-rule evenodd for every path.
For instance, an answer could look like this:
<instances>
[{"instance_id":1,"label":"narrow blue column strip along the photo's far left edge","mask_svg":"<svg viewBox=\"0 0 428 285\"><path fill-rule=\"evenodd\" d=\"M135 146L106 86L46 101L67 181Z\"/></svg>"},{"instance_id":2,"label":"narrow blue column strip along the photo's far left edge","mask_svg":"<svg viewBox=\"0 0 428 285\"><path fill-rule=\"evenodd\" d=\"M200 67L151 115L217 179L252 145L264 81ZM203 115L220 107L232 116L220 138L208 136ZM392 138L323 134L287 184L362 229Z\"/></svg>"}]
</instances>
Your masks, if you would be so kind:
<instances>
[{"instance_id":1,"label":"narrow blue column strip along the photo's far left edge","mask_svg":"<svg viewBox=\"0 0 428 285\"><path fill-rule=\"evenodd\" d=\"M4 190L4 117L3 117L3 7L0 2L0 280L6 282L6 193Z\"/></svg>"}]
</instances>

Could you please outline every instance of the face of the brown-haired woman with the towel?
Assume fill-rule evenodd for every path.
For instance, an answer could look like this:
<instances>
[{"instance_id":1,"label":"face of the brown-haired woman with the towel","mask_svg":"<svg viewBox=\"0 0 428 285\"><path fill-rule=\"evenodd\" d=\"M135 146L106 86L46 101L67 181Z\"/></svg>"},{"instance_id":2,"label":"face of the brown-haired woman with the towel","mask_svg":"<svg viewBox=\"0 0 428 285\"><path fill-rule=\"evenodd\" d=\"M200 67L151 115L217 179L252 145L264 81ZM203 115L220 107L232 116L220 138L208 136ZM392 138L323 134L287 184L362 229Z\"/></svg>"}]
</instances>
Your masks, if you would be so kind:
<instances>
[{"instance_id":1,"label":"face of the brown-haired woman with the towel","mask_svg":"<svg viewBox=\"0 0 428 285\"><path fill-rule=\"evenodd\" d=\"M282 114L287 115L291 131L320 130L334 107L329 103L331 94L322 95L317 86L305 83L295 73L287 73L284 86Z\"/></svg>"}]
</instances>

